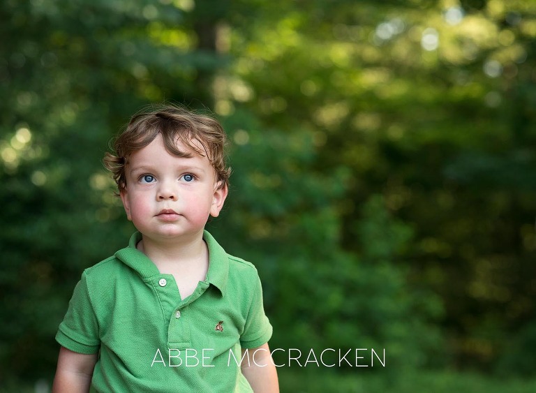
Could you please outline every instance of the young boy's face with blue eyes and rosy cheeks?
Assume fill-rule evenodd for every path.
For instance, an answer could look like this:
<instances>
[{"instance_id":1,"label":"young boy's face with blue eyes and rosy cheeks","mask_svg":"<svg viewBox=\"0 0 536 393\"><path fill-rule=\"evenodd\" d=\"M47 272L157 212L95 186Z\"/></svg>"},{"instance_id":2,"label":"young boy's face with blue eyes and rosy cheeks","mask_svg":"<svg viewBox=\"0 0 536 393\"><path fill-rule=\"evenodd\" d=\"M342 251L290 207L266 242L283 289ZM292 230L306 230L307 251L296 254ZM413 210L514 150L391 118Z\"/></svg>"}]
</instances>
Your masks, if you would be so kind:
<instances>
[{"instance_id":1,"label":"young boy's face with blue eyes and rosy cheeks","mask_svg":"<svg viewBox=\"0 0 536 393\"><path fill-rule=\"evenodd\" d=\"M191 158L174 156L165 149L160 134L149 145L135 151L125 168L126 188L121 200L126 216L144 237L154 241L193 239L218 216L227 196L206 156L181 151Z\"/></svg>"}]
</instances>

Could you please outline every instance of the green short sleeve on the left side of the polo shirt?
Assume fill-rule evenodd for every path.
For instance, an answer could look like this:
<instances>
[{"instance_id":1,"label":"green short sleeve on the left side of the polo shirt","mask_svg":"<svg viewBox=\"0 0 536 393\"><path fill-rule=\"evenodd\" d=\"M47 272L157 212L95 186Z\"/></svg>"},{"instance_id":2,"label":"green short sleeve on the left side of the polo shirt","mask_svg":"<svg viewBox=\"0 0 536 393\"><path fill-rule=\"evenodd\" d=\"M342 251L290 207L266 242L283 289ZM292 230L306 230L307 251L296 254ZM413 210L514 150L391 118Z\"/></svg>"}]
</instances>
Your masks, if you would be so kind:
<instances>
[{"instance_id":1,"label":"green short sleeve on the left side of the polo shirt","mask_svg":"<svg viewBox=\"0 0 536 393\"><path fill-rule=\"evenodd\" d=\"M56 341L76 353L97 353L100 347L98 322L91 305L86 273L77 283L64 320L59 325Z\"/></svg>"}]
</instances>

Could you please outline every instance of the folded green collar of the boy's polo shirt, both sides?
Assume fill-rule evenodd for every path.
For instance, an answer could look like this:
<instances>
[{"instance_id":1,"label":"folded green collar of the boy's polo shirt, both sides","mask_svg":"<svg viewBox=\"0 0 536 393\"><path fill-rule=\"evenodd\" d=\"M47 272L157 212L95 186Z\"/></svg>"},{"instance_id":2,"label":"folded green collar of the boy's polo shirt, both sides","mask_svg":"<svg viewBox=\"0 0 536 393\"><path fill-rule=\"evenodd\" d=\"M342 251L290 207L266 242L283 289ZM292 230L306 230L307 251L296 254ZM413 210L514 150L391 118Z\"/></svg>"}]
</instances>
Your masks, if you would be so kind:
<instances>
[{"instance_id":1,"label":"folded green collar of the boy's polo shirt, both sides","mask_svg":"<svg viewBox=\"0 0 536 393\"><path fill-rule=\"evenodd\" d=\"M115 257L125 265L128 265L134 269L142 279L150 280L154 276L158 276L158 268L154 263L147 258L147 255L136 249L136 245L142 239L140 232L135 232L130 241L128 247L121 249L115 253ZM203 239L207 242L209 247L209 271L207 272L207 281L212 284L221 292L222 296L225 296L227 291L227 282L229 277L229 260L228 255L222 246L216 242L216 239L205 230L203 232Z\"/></svg>"}]
</instances>

